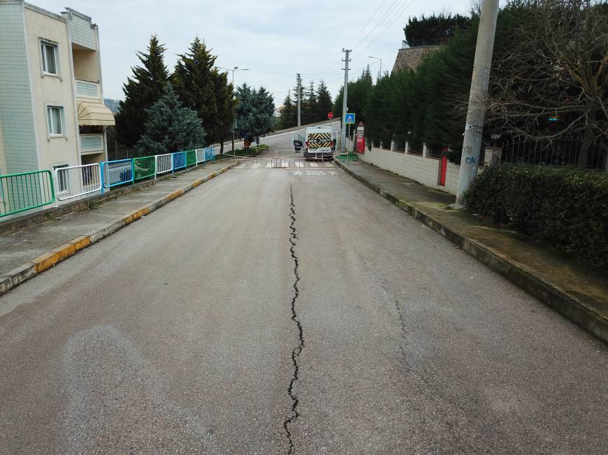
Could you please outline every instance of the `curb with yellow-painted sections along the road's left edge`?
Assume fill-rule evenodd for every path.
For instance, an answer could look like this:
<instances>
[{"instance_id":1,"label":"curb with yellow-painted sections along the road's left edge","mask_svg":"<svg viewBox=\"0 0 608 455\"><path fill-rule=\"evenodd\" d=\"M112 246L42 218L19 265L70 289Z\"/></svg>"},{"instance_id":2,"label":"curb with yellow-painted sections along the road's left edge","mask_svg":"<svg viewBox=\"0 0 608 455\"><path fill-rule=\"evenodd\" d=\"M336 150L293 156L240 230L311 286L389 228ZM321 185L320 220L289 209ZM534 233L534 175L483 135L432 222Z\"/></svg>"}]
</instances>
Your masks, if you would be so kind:
<instances>
[{"instance_id":1,"label":"curb with yellow-painted sections along the road's left edge","mask_svg":"<svg viewBox=\"0 0 608 455\"><path fill-rule=\"evenodd\" d=\"M121 230L123 227L130 225L133 221L137 221L138 219L150 214L150 212L163 207L168 202L184 195L192 188L196 188L197 186L204 184L205 181L213 179L217 177L219 174L223 174L227 170L231 169L238 165L238 162L233 163L229 166L222 167L219 170L212 172L206 177L202 179L197 179L193 181L191 184L180 188L179 190L175 190L168 195L164 195L160 199L155 200L154 202L150 202L139 209L132 211L130 214L126 216L122 216L121 218L117 218L115 221L108 223L99 227L98 229L87 232L84 235L76 237L75 239L68 241L67 244L59 246L59 248L55 248L48 253L45 253L38 258L34 259L31 262L26 262L20 267L17 267L8 272L5 276L0 276L0 295L6 294L9 290L16 288L18 285L26 282L30 278L41 274L43 271L54 267L55 264L70 258L75 255L79 251L87 248L87 246L96 244L101 239L105 239L110 235L114 234L117 230Z\"/></svg>"}]
</instances>

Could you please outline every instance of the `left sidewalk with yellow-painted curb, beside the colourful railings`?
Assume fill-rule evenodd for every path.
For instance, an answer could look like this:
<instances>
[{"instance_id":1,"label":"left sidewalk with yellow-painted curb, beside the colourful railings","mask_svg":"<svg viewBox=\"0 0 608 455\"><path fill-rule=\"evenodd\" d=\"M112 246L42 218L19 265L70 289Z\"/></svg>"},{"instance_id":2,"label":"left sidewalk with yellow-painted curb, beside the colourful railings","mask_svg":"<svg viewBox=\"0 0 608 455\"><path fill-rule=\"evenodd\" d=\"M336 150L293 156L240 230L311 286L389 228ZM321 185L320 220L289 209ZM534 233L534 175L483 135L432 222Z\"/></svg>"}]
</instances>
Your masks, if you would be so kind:
<instances>
[{"instance_id":1,"label":"left sidewalk with yellow-painted curb, beside the colourful railings","mask_svg":"<svg viewBox=\"0 0 608 455\"><path fill-rule=\"evenodd\" d=\"M154 184L147 182L92 209L72 211L0 236L0 295L236 164L233 160L208 163Z\"/></svg>"}]
</instances>

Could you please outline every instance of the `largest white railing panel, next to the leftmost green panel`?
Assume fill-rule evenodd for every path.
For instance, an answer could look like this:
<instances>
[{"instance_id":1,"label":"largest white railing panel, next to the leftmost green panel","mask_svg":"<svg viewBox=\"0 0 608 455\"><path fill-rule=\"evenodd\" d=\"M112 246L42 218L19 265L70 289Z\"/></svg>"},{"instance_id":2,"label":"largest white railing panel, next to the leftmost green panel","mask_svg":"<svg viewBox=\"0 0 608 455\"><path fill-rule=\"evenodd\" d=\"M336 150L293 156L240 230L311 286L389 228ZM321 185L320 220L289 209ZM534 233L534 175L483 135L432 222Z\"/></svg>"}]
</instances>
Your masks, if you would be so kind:
<instances>
[{"instance_id":1,"label":"largest white railing panel, next to the leftmost green panel","mask_svg":"<svg viewBox=\"0 0 608 455\"><path fill-rule=\"evenodd\" d=\"M55 195L60 201L96 193L96 191L101 191L101 166L99 163L93 163L57 167L54 180Z\"/></svg>"}]
</instances>

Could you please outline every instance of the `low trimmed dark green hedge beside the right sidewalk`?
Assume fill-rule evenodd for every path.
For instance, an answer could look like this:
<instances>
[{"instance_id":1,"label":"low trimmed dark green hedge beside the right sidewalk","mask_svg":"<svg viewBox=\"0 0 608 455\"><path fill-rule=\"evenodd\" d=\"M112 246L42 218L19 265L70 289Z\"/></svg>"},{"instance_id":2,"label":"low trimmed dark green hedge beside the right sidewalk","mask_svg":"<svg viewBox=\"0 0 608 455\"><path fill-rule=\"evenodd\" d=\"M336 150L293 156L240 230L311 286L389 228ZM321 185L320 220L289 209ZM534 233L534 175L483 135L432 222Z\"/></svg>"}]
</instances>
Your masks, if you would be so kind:
<instances>
[{"instance_id":1,"label":"low trimmed dark green hedge beside the right sidewalk","mask_svg":"<svg viewBox=\"0 0 608 455\"><path fill-rule=\"evenodd\" d=\"M608 174L564 166L486 167L466 195L475 214L595 267L608 267Z\"/></svg>"}]
</instances>

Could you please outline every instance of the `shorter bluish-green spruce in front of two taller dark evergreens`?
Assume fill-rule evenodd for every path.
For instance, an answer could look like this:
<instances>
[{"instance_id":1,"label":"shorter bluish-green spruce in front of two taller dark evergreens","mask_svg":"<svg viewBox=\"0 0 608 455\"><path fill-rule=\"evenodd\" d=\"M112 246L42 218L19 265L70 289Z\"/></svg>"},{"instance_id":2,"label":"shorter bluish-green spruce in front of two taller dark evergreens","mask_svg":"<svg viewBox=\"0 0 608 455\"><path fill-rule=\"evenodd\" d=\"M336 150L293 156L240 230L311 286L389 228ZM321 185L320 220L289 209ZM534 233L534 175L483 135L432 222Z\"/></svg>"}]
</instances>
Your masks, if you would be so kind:
<instances>
[{"instance_id":1,"label":"shorter bluish-green spruce in front of two taller dark evergreens","mask_svg":"<svg viewBox=\"0 0 608 455\"><path fill-rule=\"evenodd\" d=\"M165 94L146 110L145 133L137 142L140 156L160 155L173 151L203 147L205 132L196 112L182 103L170 82Z\"/></svg>"}]
</instances>

